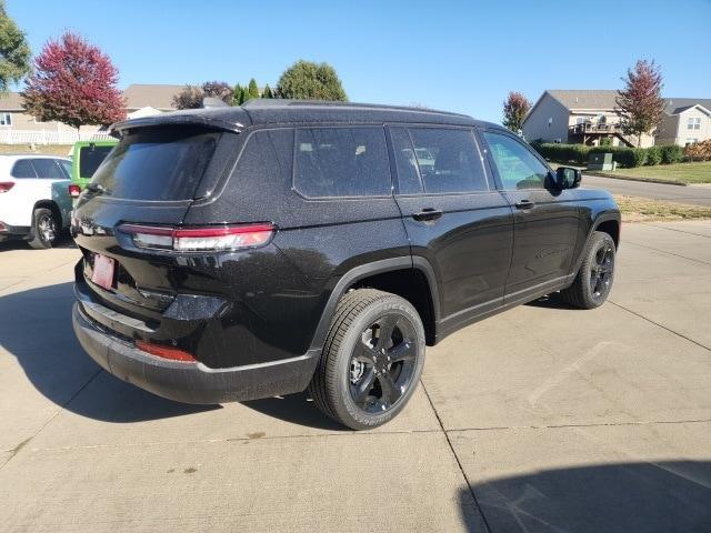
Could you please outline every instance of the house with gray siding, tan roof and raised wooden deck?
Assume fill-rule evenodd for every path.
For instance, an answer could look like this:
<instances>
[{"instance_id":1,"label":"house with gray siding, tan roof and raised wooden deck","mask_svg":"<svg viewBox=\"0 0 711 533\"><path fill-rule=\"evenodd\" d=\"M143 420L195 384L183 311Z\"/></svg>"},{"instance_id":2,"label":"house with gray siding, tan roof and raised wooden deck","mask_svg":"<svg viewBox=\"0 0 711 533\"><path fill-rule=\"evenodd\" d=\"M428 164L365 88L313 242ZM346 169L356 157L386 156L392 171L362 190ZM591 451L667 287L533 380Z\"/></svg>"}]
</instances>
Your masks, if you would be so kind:
<instances>
[{"instance_id":1,"label":"house with gray siding, tan roof and raised wooden deck","mask_svg":"<svg viewBox=\"0 0 711 533\"><path fill-rule=\"evenodd\" d=\"M529 141L600 145L637 145L637 137L624 134L617 113L614 90L548 90L523 120L523 135ZM641 145L654 144L652 135L642 134Z\"/></svg>"}]
</instances>

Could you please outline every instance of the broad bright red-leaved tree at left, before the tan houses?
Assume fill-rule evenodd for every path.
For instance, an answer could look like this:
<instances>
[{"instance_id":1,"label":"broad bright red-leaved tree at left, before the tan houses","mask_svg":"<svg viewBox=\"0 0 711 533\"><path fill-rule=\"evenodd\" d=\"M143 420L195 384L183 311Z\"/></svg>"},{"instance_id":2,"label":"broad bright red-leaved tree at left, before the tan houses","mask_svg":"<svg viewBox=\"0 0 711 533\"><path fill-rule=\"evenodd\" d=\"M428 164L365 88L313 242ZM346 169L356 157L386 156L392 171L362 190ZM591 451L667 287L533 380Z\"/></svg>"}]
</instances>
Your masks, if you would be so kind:
<instances>
[{"instance_id":1,"label":"broad bright red-leaved tree at left, before the tan houses","mask_svg":"<svg viewBox=\"0 0 711 533\"><path fill-rule=\"evenodd\" d=\"M66 32L48 41L34 59L22 107L38 120L58 120L77 128L77 133L86 124L110 124L126 118L118 78L107 54Z\"/></svg>"}]
</instances>

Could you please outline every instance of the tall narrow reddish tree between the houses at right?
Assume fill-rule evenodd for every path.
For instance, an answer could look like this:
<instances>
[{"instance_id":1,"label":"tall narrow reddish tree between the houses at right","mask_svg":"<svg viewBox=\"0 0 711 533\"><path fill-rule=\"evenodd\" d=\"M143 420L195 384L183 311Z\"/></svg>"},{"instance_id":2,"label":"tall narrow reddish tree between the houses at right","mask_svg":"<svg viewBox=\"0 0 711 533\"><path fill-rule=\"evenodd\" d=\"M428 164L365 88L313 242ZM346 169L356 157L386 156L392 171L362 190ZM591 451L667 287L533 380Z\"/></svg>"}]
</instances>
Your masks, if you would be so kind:
<instances>
[{"instance_id":1,"label":"tall narrow reddish tree between the houses at right","mask_svg":"<svg viewBox=\"0 0 711 533\"><path fill-rule=\"evenodd\" d=\"M622 131L637 135L637 145L642 143L642 133L651 133L664 112L661 98L664 87L662 73L654 61L639 60L634 70L628 69L624 89L618 91L615 102Z\"/></svg>"}]
</instances>

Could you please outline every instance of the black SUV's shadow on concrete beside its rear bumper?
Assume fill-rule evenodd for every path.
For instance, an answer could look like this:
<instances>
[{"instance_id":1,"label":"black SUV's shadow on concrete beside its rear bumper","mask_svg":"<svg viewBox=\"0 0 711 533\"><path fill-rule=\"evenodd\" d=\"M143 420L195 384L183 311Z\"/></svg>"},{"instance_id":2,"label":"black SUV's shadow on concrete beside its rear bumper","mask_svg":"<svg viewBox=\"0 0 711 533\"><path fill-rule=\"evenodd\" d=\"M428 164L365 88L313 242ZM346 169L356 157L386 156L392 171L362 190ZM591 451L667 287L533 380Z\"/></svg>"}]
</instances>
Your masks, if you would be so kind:
<instances>
[{"instance_id":1,"label":"black SUV's shadow on concrete beside its rear bumper","mask_svg":"<svg viewBox=\"0 0 711 533\"><path fill-rule=\"evenodd\" d=\"M7 352L0 352L0 358L8 353L17 358L32 385L46 398L82 416L118 423L220 409L164 400L103 372L74 338L73 302L73 283L0 298L0 346Z\"/></svg>"}]
</instances>

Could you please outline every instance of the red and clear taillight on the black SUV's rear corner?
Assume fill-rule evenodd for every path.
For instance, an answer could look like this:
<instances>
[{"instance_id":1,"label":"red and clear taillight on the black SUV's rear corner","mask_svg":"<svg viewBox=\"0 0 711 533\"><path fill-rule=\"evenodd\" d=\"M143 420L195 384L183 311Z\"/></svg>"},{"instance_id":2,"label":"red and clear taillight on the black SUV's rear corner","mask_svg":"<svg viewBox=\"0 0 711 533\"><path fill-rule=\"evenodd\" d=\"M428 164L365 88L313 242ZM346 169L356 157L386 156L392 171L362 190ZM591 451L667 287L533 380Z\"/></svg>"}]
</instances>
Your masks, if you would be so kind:
<instances>
[{"instance_id":1,"label":"red and clear taillight on the black SUV's rear corner","mask_svg":"<svg viewBox=\"0 0 711 533\"><path fill-rule=\"evenodd\" d=\"M267 244L277 228L273 224L220 225L204 228L161 228L141 224L121 224L119 231L128 233L138 248L200 252L241 250Z\"/></svg>"}]
</instances>

